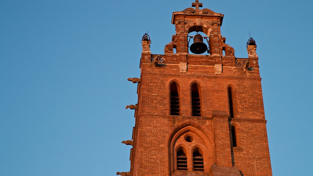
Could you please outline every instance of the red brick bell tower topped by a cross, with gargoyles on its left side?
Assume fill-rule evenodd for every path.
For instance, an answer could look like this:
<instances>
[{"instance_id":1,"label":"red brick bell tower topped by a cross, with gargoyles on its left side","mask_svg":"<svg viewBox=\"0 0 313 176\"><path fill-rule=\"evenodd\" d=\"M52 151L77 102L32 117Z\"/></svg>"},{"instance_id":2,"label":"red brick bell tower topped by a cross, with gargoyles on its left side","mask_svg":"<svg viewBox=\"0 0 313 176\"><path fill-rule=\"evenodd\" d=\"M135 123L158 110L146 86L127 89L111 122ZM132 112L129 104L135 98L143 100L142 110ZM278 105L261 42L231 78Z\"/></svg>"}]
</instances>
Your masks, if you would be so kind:
<instances>
[{"instance_id":1,"label":"red brick bell tower topped by a cross, with gargoyles on its left side","mask_svg":"<svg viewBox=\"0 0 313 176\"><path fill-rule=\"evenodd\" d=\"M131 170L117 174L271 176L255 41L248 58L236 58L220 31L223 14L198 0L192 7L173 13L164 55L151 54L143 36L141 76L128 79L138 83L132 140L123 141L133 146ZM203 36L188 36L194 31Z\"/></svg>"}]
</instances>

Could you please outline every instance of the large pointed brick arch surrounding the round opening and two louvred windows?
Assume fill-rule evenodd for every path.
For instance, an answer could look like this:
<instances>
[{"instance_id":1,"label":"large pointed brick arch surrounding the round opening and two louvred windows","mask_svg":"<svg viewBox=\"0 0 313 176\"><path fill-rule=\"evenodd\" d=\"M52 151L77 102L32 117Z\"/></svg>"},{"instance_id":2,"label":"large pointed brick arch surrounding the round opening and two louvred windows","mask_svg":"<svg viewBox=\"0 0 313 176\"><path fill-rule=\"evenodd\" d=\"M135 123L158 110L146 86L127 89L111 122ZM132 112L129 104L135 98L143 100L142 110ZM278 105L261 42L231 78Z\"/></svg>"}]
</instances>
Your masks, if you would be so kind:
<instances>
[{"instance_id":1,"label":"large pointed brick arch surrounding the round opening and two louvred windows","mask_svg":"<svg viewBox=\"0 0 313 176\"><path fill-rule=\"evenodd\" d=\"M168 133L167 135L167 151L168 151L168 165L169 165L169 175L172 175L175 171L175 155L173 155L173 152L175 151L174 145L175 141L182 136L183 134L187 132L193 132L197 134L199 137L202 138L204 143L206 144L205 148L202 148L203 150L206 149L206 160L208 161L211 159L212 161L208 163L215 163L216 158L215 158L215 146L214 146L214 137L211 134L211 132L208 131L206 127L201 125L200 123L193 121L193 120L186 120L183 121L182 123L178 124L176 127L172 129L171 132ZM203 146L202 146L203 147ZM190 150L191 151L191 150ZM211 153L209 156L208 153ZM186 154L187 155L187 154ZM207 164L208 165L208 164ZM209 171L209 167L205 168L205 171Z\"/></svg>"}]
</instances>

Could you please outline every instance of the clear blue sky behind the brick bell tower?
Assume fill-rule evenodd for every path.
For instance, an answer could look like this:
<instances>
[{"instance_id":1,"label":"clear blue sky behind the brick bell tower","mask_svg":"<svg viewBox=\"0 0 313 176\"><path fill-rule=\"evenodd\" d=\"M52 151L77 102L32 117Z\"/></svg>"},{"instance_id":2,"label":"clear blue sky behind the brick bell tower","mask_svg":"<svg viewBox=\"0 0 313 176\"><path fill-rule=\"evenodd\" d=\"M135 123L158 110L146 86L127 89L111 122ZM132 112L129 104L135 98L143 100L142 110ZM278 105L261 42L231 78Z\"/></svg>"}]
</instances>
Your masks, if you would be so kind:
<instances>
[{"instance_id":1,"label":"clear blue sky behind the brick bell tower","mask_svg":"<svg viewBox=\"0 0 313 176\"><path fill-rule=\"evenodd\" d=\"M0 1L0 175L129 171L141 37L163 54L194 0ZM312 175L312 1L204 1L238 58L258 45L275 176Z\"/></svg>"}]
</instances>

